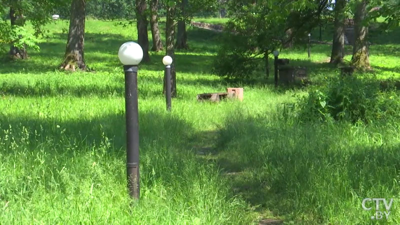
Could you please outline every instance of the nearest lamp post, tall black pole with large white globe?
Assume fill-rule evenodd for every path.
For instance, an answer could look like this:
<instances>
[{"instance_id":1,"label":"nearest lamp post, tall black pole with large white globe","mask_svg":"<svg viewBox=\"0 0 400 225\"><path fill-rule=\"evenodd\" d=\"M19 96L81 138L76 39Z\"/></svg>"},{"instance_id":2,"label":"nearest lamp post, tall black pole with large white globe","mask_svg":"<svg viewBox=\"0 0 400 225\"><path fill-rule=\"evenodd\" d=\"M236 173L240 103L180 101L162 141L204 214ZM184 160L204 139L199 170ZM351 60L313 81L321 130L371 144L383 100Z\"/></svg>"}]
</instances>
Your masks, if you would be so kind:
<instances>
[{"instance_id":1,"label":"nearest lamp post, tall black pole with large white globe","mask_svg":"<svg viewBox=\"0 0 400 225\"><path fill-rule=\"evenodd\" d=\"M126 116L126 176L129 195L140 196L139 183L139 116L137 109L137 65L143 58L140 45L129 41L118 50L119 60L125 72L125 116Z\"/></svg>"}]
</instances>

